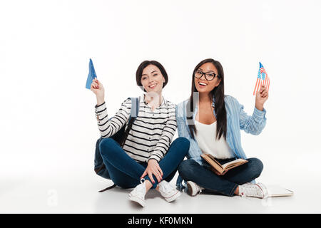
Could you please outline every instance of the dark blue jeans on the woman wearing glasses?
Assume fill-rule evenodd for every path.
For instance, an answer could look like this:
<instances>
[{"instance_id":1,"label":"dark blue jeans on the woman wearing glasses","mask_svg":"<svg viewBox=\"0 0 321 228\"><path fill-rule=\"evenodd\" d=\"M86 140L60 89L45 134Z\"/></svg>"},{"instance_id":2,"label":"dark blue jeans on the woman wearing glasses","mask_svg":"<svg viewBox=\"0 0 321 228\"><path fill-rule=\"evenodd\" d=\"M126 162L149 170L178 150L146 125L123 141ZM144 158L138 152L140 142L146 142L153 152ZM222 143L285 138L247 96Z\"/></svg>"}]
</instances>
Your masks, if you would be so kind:
<instances>
[{"instance_id":1,"label":"dark blue jeans on the woman wearing glasses","mask_svg":"<svg viewBox=\"0 0 321 228\"><path fill-rule=\"evenodd\" d=\"M230 162L233 159L218 160L220 164ZM195 160L188 159L180 163L178 172L185 181L195 182L203 187L204 192L219 193L232 197L238 185L251 182L258 178L263 170L263 163L258 158L249 158L248 162L228 170L223 176L216 175L209 166L199 165Z\"/></svg>"}]
</instances>

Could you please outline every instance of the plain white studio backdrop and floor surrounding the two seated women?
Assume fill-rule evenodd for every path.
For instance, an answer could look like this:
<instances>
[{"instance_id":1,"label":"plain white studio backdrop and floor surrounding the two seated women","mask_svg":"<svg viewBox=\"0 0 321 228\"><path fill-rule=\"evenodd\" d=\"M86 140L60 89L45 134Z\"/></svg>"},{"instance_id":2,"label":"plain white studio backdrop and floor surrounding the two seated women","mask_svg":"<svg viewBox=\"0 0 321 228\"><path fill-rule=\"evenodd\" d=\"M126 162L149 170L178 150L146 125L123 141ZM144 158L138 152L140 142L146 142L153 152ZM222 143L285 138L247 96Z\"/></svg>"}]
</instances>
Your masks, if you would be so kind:
<instances>
[{"instance_id":1,"label":"plain white studio backdrop and floor surrounding the two seated women","mask_svg":"<svg viewBox=\"0 0 321 228\"><path fill-rule=\"evenodd\" d=\"M320 10L311 0L1 1L0 212L320 213ZM258 136L242 133L243 149L265 165L259 182L295 195L184 194L168 204L152 192L142 211L128 190L98 194L111 182L93 172L99 132L96 98L85 88L89 58L109 115L141 95L142 61L163 64L163 95L180 103L204 58L222 63L225 93L252 114L260 61L271 81L267 125Z\"/></svg>"}]
</instances>

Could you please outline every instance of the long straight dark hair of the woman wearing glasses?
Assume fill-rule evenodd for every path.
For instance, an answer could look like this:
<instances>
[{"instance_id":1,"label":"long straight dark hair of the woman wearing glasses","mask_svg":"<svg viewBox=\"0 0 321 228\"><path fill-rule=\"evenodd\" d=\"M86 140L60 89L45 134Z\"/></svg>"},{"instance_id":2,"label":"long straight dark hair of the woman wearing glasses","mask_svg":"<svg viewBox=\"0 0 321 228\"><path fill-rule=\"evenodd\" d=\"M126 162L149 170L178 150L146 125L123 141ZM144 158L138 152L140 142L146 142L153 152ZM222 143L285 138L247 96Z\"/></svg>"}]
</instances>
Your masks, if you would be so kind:
<instances>
[{"instance_id":1,"label":"long straight dark hair of the woman wearing glasses","mask_svg":"<svg viewBox=\"0 0 321 228\"><path fill-rule=\"evenodd\" d=\"M187 116L187 119L192 121L192 124L188 125L188 128L190 129L190 134L192 138L194 138L194 133L196 133L195 124L193 123L193 113L194 113L194 103L193 103L193 93L198 92L198 90L195 87L195 78L194 73L195 71L200 68L204 63L213 63L215 68L218 70L218 78L220 79L220 84L216 86L212 91L210 91L210 98L215 98L215 114L216 114L216 138L220 139L220 137L223 135L223 137L226 140L226 132L227 132L227 118L226 118L226 109L225 109L225 102L224 102L224 72L223 67L220 64L219 61L215 61L212 58L207 58L203 61L200 61L197 66L195 66L195 69L193 71L192 76L192 93L190 94L190 100L188 100L187 105L187 113L190 113L189 116ZM190 110L188 110L190 109Z\"/></svg>"}]
</instances>

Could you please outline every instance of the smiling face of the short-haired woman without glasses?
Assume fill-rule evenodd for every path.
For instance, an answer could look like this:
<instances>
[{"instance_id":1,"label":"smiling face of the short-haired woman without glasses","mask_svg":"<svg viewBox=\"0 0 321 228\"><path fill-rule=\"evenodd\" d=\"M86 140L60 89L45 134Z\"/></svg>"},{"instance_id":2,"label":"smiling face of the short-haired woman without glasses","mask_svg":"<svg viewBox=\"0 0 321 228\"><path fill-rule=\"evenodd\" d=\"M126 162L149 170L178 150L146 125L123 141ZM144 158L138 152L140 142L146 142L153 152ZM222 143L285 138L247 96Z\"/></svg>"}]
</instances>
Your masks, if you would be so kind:
<instances>
[{"instance_id":1,"label":"smiling face of the short-haired woman without glasses","mask_svg":"<svg viewBox=\"0 0 321 228\"><path fill-rule=\"evenodd\" d=\"M163 83L165 83L165 78L157 66L148 65L143 69L141 84L147 93L161 93L163 90Z\"/></svg>"}]
</instances>

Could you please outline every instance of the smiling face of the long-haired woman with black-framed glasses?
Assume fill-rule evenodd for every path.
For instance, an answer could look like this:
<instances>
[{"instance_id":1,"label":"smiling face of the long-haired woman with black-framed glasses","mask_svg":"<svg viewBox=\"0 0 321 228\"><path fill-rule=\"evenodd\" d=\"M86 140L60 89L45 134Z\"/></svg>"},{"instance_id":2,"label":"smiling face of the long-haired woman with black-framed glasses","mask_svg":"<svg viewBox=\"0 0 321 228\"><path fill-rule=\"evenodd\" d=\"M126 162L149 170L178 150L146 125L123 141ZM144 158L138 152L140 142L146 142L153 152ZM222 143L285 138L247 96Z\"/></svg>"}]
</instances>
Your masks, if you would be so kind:
<instances>
[{"instance_id":1,"label":"smiling face of the long-haired woman with black-framed glasses","mask_svg":"<svg viewBox=\"0 0 321 228\"><path fill-rule=\"evenodd\" d=\"M211 81L206 80L204 74L200 78L194 77L195 87L199 93L210 93L210 91L220 84L220 79L218 78L218 69L215 68L213 63L204 63L196 71L200 71L200 73L215 73L216 75Z\"/></svg>"}]
</instances>

